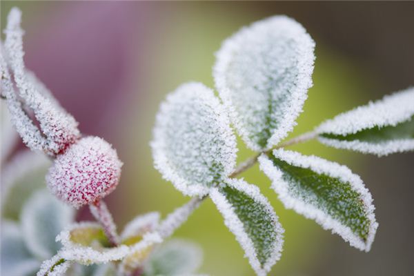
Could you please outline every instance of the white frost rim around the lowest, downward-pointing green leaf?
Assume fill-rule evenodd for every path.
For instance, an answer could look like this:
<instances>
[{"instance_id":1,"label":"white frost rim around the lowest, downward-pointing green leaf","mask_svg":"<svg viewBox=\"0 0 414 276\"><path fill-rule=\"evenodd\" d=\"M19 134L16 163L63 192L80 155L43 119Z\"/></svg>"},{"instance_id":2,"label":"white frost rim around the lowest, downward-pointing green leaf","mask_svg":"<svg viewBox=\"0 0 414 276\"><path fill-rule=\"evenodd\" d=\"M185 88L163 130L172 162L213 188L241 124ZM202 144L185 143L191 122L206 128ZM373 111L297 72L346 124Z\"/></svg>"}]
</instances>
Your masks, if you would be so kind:
<instances>
[{"instance_id":1,"label":"white frost rim around the lowest, downward-pointing green leaf","mask_svg":"<svg viewBox=\"0 0 414 276\"><path fill-rule=\"evenodd\" d=\"M279 224L278 218L273 210L272 206L270 206L266 197L264 197L261 193L259 188L254 185L247 184L246 181L243 179L227 179L226 185L239 190L244 195L247 195L255 204L260 208L264 208L266 210L266 215L270 217L271 222L274 225L273 231L276 235L276 239L271 244L273 250L270 252L270 256L266 259L265 264L261 264L258 259L257 248L255 248L255 244L253 242L252 237L248 235L246 232L246 228L244 226L244 222L240 219L240 217L235 213L235 206L230 204L226 196L221 193L219 188L210 188L210 198L213 200L217 209L224 217L224 224L228 227L228 229L235 235L237 242L242 246L245 252L245 256L248 258L250 266L252 266L255 273L259 276L266 275L272 266L280 259L282 246L283 246L283 233L284 229ZM257 214L261 215L261 214ZM268 236L270 233L260 233L257 231L255 235L266 235Z\"/></svg>"}]
</instances>

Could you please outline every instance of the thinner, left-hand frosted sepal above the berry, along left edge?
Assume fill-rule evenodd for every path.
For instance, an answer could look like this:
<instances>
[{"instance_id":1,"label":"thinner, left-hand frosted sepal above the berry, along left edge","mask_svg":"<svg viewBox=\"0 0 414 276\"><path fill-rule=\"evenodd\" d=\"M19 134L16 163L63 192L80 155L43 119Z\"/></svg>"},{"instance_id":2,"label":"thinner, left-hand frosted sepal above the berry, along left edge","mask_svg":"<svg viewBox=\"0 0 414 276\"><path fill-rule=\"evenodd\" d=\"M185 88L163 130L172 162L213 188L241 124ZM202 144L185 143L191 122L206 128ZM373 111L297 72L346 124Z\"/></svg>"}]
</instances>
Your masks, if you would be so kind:
<instances>
[{"instance_id":1,"label":"thinner, left-hand frosted sepal above the berry, along left edge","mask_svg":"<svg viewBox=\"0 0 414 276\"><path fill-rule=\"evenodd\" d=\"M1 46L1 43L0 43ZM43 150L47 146L46 139L28 116L17 95L14 92L14 86L8 71L5 60L5 52L3 46L0 48L0 70L1 70L1 95L6 97L10 121L16 128L23 143L31 150Z\"/></svg>"}]
</instances>

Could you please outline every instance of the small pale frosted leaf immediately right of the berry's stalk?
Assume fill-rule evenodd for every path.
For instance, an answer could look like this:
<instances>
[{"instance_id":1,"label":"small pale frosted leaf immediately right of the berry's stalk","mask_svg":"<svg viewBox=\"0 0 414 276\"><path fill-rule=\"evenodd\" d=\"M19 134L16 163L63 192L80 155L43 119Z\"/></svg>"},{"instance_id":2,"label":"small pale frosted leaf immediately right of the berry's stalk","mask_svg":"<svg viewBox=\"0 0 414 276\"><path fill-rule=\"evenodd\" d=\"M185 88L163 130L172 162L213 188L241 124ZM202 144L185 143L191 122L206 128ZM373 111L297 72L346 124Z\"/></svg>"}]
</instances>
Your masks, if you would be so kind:
<instances>
[{"instance_id":1,"label":"small pale frosted leaf immediately right of the berry's stalk","mask_svg":"<svg viewBox=\"0 0 414 276\"><path fill-rule=\"evenodd\" d=\"M155 230L159 224L159 213L151 212L139 215L126 224L121 233L122 243L132 242L135 238L141 238L144 233Z\"/></svg>"}]
</instances>

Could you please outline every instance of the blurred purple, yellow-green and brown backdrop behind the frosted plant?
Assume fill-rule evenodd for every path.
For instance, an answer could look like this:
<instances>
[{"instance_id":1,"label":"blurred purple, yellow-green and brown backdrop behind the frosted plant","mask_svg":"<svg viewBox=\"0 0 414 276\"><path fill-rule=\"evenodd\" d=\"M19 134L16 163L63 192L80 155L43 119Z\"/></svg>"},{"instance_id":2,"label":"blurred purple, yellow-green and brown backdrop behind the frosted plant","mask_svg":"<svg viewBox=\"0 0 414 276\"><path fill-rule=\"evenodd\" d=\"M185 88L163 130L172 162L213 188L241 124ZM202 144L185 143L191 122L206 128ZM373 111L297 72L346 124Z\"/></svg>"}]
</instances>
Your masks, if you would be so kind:
<instances>
[{"instance_id":1,"label":"blurred purple, yellow-green and brown backdrop behind the frosted plant","mask_svg":"<svg viewBox=\"0 0 414 276\"><path fill-rule=\"evenodd\" d=\"M314 86L290 135L370 99L414 85L414 2L97 2L1 1L1 29L12 6L23 10L28 68L80 122L110 141L124 161L107 202L119 227L138 213L168 214L188 200L152 167L150 139L159 103L185 81L213 87L221 41L246 24L287 14L315 39ZM252 155L240 143L239 160ZM285 210L257 166L257 184L286 229L271 275L413 275L414 154L376 158L316 141L292 147L349 166L362 176L380 223L361 253L315 222ZM79 219L89 219L81 210ZM204 249L202 273L253 275L242 249L206 201L176 237Z\"/></svg>"}]
</instances>

